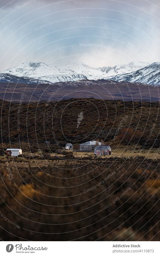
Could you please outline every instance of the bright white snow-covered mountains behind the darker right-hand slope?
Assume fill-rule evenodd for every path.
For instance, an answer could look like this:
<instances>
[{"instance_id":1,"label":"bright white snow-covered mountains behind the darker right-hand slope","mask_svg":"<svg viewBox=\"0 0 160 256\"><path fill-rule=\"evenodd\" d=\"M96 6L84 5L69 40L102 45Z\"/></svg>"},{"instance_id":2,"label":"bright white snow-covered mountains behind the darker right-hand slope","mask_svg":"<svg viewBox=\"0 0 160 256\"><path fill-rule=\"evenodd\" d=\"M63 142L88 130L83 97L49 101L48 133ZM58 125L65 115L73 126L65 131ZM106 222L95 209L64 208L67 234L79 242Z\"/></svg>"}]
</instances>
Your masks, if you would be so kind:
<instances>
[{"instance_id":1,"label":"bright white snow-covered mountains behind the darker right-hand slope","mask_svg":"<svg viewBox=\"0 0 160 256\"><path fill-rule=\"evenodd\" d=\"M93 68L84 63L75 63L65 67L47 65L43 62L27 62L17 67L5 70L5 73L18 77L31 77L34 79L49 81L50 83L78 81L81 79L98 80L110 79L117 74L126 74L143 68L148 63L131 62L128 65L116 65L114 67L105 66Z\"/></svg>"}]
</instances>

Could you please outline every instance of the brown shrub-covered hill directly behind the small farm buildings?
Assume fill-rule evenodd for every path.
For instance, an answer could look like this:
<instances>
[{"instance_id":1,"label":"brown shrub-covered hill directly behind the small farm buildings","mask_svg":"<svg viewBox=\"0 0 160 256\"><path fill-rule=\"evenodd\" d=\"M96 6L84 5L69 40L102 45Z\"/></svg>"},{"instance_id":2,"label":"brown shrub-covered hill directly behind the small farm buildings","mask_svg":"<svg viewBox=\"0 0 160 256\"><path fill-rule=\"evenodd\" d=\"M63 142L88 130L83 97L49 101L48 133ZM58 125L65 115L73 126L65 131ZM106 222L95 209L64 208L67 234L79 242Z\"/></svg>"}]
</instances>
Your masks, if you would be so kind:
<instances>
[{"instance_id":1,"label":"brown shrub-covered hill directly behind the small farm buildings","mask_svg":"<svg viewBox=\"0 0 160 256\"><path fill-rule=\"evenodd\" d=\"M46 103L0 102L1 142L29 141L64 146L89 140L143 143L155 124L146 147L159 147L159 103L70 99ZM78 115L83 119L77 128ZM83 113L82 113L83 112ZM124 118L125 117L125 118ZM127 129L127 130L125 130ZM127 131L127 133L125 133Z\"/></svg>"}]
</instances>

